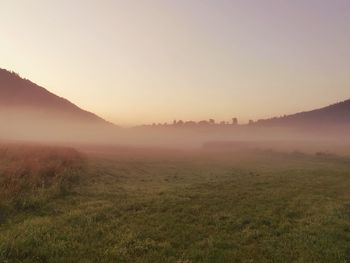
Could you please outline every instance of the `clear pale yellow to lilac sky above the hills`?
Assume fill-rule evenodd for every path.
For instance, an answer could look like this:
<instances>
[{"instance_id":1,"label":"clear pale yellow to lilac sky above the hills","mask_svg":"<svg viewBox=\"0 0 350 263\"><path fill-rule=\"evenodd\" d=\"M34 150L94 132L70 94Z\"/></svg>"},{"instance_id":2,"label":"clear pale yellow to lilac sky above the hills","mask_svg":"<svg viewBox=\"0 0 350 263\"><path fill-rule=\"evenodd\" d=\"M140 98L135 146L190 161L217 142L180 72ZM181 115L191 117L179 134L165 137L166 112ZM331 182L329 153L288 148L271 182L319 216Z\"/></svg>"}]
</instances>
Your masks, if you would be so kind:
<instances>
[{"instance_id":1,"label":"clear pale yellow to lilac sky above the hills","mask_svg":"<svg viewBox=\"0 0 350 263\"><path fill-rule=\"evenodd\" d=\"M348 0L0 0L0 68L120 125L350 98Z\"/></svg>"}]
</instances>

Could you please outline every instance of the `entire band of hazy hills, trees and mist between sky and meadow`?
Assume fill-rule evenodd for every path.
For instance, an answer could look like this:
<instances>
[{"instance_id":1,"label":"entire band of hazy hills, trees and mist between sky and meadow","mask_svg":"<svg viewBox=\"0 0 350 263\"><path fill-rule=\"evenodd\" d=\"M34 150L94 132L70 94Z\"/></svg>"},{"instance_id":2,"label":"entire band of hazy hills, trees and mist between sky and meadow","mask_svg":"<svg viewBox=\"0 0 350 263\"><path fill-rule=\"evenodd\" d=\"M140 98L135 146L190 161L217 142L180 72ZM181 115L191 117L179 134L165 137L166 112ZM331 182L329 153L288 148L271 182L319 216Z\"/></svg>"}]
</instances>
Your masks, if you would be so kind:
<instances>
[{"instance_id":1,"label":"entire band of hazy hills, trees and mist between sky and meadow","mask_svg":"<svg viewBox=\"0 0 350 263\"><path fill-rule=\"evenodd\" d=\"M214 139L347 138L350 100L283 117L251 121L248 125L240 125L237 118L232 118L232 122L180 120L172 124L138 126L141 129L116 130L115 127L30 80L0 69L0 140L178 145ZM190 133L191 130L198 133Z\"/></svg>"}]
</instances>

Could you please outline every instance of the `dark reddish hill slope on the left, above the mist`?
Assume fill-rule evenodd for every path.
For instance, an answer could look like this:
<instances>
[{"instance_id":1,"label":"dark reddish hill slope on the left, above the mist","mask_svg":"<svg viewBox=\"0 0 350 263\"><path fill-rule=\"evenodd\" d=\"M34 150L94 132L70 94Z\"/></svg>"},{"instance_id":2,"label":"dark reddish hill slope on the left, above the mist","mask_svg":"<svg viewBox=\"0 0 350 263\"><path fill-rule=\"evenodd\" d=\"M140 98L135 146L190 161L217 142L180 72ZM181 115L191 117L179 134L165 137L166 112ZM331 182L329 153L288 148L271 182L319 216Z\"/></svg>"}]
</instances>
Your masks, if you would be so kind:
<instances>
[{"instance_id":1,"label":"dark reddish hill slope on the left, above the mist","mask_svg":"<svg viewBox=\"0 0 350 263\"><path fill-rule=\"evenodd\" d=\"M18 74L0 68L0 111L23 110L72 121L109 124Z\"/></svg>"}]
</instances>

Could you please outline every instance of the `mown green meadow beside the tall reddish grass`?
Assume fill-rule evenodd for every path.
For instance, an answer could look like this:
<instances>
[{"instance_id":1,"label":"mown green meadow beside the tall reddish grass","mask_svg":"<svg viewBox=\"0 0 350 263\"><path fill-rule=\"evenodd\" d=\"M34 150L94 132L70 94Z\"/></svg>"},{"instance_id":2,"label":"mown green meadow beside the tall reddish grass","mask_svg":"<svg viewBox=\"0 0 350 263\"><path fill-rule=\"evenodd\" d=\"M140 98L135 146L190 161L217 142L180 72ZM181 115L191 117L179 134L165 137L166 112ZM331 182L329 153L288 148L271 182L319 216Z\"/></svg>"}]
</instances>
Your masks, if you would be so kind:
<instances>
[{"instance_id":1,"label":"mown green meadow beside the tall reddish grass","mask_svg":"<svg viewBox=\"0 0 350 263\"><path fill-rule=\"evenodd\" d=\"M350 158L59 152L51 177L79 180L36 205L3 197L0 262L350 262Z\"/></svg>"}]
</instances>

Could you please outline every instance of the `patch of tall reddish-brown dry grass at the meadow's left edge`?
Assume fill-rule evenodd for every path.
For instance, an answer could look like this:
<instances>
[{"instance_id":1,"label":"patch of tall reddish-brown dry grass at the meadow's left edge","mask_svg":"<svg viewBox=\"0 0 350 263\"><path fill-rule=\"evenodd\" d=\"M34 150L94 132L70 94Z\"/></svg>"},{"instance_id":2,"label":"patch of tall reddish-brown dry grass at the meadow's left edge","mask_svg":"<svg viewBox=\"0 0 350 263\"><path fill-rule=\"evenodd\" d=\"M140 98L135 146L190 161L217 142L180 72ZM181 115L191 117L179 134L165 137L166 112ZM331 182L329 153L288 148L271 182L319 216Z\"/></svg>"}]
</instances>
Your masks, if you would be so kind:
<instances>
[{"instance_id":1,"label":"patch of tall reddish-brown dry grass at the meadow's left edge","mask_svg":"<svg viewBox=\"0 0 350 263\"><path fill-rule=\"evenodd\" d=\"M79 179L83 166L81 154L74 149L1 145L0 200L23 204L39 192L66 192Z\"/></svg>"}]
</instances>

